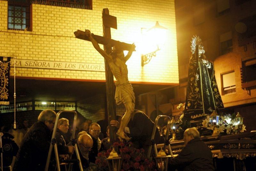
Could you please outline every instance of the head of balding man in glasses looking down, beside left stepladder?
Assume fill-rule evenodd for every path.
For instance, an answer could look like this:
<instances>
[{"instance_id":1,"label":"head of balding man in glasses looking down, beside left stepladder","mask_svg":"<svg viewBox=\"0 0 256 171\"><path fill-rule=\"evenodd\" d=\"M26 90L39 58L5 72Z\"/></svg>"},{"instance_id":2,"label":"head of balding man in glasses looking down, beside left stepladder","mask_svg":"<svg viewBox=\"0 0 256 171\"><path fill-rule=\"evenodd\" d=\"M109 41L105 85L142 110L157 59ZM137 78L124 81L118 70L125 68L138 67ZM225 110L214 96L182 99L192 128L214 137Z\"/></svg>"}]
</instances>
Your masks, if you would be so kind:
<instances>
[{"instance_id":1,"label":"head of balding man in glasses looking down, beside left stepladder","mask_svg":"<svg viewBox=\"0 0 256 171\"><path fill-rule=\"evenodd\" d=\"M91 151L93 140L92 137L87 134L85 131L78 133L78 145L81 147L83 153Z\"/></svg>"}]
</instances>

